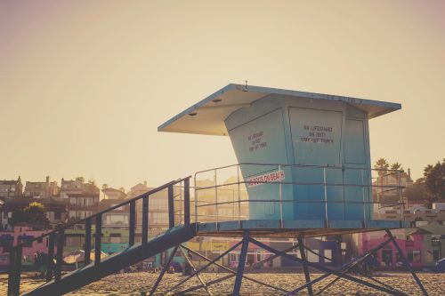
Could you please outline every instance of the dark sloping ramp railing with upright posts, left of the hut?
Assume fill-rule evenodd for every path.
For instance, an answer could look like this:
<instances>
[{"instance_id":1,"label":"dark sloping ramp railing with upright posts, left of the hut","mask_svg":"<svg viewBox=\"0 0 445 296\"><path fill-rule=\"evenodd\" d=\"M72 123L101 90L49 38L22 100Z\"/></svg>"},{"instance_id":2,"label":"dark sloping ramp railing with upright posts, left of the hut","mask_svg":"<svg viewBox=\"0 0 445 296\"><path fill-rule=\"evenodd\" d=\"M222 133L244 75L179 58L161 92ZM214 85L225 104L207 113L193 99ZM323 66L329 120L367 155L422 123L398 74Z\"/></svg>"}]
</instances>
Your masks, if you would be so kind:
<instances>
[{"instance_id":1,"label":"dark sloping ramp railing with upright posts, left of the hut","mask_svg":"<svg viewBox=\"0 0 445 296\"><path fill-rule=\"evenodd\" d=\"M191 176L181 179L173 180L158 188L154 188L141 196L136 196L132 199L125 200L120 204L111 206L101 212L94 213L93 215L66 224L61 228L54 229L41 236L36 236L32 239L27 239L21 244L12 246L9 259L9 277L8 277L8 296L16 296L20 294L20 276L21 276L21 259L22 251L28 244L32 244L35 241L42 241L47 238L48 242L48 256L47 256L47 271L46 282L54 280L58 282L61 280L61 266L63 259L63 248L65 242L65 231L69 228L73 228L79 224L85 224L85 266L91 263L90 254L92 253L92 225L95 224L94 229L94 260L95 266L101 264L101 237L102 237L102 215L107 212L116 210L119 207L129 205L129 225L128 225L128 245L133 246L135 244L135 228L136 228L136 202L142 200L142 239L141 244L147 244L149 241L149 198L150 196L160 192L161 190L167 190L167 205L168 205L168 227L174 228L174 226L183 224L190 225L190 178ZM180 187L180 193L174 194L175 188ZM180 197L180 203L175 203L175 198ZM175 222L175 205L180 207L181 218ZM55 261L54 261L55 260Z\"/></svg>"}]
</instances>

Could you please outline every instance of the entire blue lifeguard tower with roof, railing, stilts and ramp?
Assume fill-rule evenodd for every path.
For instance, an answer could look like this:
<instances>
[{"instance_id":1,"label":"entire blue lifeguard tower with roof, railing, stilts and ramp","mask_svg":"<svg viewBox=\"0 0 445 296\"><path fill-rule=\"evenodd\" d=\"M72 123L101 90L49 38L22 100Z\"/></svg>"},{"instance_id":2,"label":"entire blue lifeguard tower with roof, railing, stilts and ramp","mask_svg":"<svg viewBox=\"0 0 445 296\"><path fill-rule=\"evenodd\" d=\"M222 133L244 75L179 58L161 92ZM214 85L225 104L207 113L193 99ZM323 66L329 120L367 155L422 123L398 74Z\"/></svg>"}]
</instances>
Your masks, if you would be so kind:
<instances>
[{"instance_id":1,"label":"entire blue lifeguard tower with roof, railing, stilts and ramp","mask_svg":"<svg viewBox=\"0 0 445 296\"><path fill-rule=\"evenodd\" d=\"M312 295L313 285L317 284L318 289L322 280L336 276L317 292L326 291L342 278L380 292L406 295L372 276L365 275L365 278L348 273L388 244L394 245L404 266L427 295L391 233L393 228L406 227L401 201L401 172L373 170L369 156L368 120L400 108L400 104L376 100L229 84L160 125L158 131L229 136L239 164L195 173L194 190L190 186L191 176L172 180L141 196L13 246L8 295L20 294L23 247L44 239L48 249L46 283L24 295L71 292L141 260L169 252L158 280L151 287L150 295L153 295L176 251L183 252L184 260L193 271L164 292L187 294L204 288L212 295L212 284L235 277L233 295L240 294L243 279L263 284L284 295L294 295L305 289ZM381 182L388 175L395 176L392 180L399 182ZM163 191L167 196L168 229L157 236L149 236L150 196ZM391 202L385 198L388 196L392 197ZM399 197L399 201L394 202L394 196L395 200ZM141 205L142 226L136 223L136 204ZM398 208L398 218L378 219L376 210L386 205ZM102 225L103 217L117 209L128 212L128 247L102 259L101 237L106 228ZM65 230L79 225L85 229L84 253L91 253L93 257L85 256L83 267L63 276ZM312 252L324 260L331 260L312 251L304 243L306 237L374 230L386 231L387 239L339 268L327 268L306 259L306 253ZM137 233L141 233L139 240L136 239ZM241 239L216 258L209 259L184 244L195 236L238 236ZM297 244L286 250L276 250L257 240L258 237L274 236L296 238ZM255 244L271 256L246 267L249 244ZM236 269L218 263L239 247ZM299 256L289 253L296 249ZM197 268L190 260L190 254L208 263ZM306 283L288 290L245 274L247 269L261 267L277 257L300 263ZM212 264L228 275L206 283L200 273ZM325 274L313 278L309 268ZM193 276L198 277L200 284L180 291L181 285Z\"/></svg>"}]
</instances>

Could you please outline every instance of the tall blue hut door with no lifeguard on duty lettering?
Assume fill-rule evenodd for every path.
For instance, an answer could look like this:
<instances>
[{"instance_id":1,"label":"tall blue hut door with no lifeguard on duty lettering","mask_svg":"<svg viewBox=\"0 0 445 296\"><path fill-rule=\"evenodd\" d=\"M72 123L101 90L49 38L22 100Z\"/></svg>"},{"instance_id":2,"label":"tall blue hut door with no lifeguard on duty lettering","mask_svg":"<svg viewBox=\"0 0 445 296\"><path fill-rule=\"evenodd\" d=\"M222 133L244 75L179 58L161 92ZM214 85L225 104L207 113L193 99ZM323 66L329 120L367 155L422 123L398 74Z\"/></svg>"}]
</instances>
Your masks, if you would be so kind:
<instances>
[{"instance_id":1,"label":"tall blue hut door with no lifeguard on duty lettering","mask_svg":"<svg viewBox=\"0 0 445 296\"><path fill-rule=\"evenodd\" d=\"M312 108L289 108L292 146L295 164L341 165L340 148L342 139L343 113L340 111ZM326 172L326 176L325 176ZM295 167L295 200L311 201L295 204L296 219L324 220L325 188L323 184L342 184L341 169L320 167ZM328 220L344 219L344 192L341 186L328 186ZM340 203L338 203L340 202Z\"/></svg>"}]
</instances>

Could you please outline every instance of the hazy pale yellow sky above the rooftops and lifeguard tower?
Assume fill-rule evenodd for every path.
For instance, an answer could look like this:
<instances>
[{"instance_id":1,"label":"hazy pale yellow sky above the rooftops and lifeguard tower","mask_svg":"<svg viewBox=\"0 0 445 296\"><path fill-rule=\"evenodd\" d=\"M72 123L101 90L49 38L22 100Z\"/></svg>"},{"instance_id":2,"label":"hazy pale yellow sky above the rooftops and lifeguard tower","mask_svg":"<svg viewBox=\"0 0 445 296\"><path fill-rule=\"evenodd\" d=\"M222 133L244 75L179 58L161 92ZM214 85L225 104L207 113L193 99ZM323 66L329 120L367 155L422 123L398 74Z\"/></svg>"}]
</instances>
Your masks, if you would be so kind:
<instances>
[{"instance_id":1,"label":"hazy pale yellow sky above the rooftops and lifeguard tower","mask_svg":"<svg viewBox=\"0 0 445 296\"><path fill-rule=\"evenodd\" d=\"M157 132L229 83L400 102L371 156L445 156L445 1L0 0L0 179L160 185L236 163Z\"/></svg>"}]
</instances>

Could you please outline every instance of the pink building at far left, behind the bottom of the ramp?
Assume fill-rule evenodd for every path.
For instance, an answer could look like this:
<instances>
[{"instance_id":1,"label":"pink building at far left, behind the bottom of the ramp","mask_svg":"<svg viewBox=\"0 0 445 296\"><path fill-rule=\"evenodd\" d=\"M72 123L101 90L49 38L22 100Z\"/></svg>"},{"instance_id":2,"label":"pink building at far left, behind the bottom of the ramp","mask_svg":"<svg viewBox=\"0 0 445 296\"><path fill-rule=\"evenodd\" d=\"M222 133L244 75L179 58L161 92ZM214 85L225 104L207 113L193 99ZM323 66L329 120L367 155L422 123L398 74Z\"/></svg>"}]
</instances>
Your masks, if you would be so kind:
<instances>
[{"instance_id":1,"label":"pink building at far left, behind the bottom of the ramp","mask_svg":"<svg viewBox=\"0 0 445 296\"><path fill-rule=\"evenodd\" d=\"M0 268L9 265L9 250L12 245L21 244L29 239L41 236L50 230L33 230L27 224L15 226L12 231L0 231ZM23 265L33 265L37 252L48 252L48 237L25 244L22 250ZM55 251L54 251L55 252Z\"/></svg>"}]
</instances>

